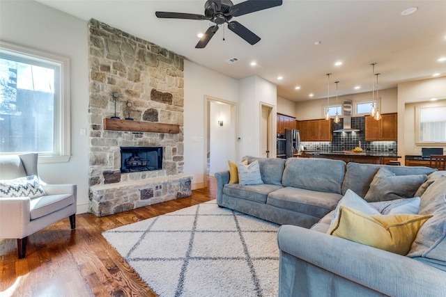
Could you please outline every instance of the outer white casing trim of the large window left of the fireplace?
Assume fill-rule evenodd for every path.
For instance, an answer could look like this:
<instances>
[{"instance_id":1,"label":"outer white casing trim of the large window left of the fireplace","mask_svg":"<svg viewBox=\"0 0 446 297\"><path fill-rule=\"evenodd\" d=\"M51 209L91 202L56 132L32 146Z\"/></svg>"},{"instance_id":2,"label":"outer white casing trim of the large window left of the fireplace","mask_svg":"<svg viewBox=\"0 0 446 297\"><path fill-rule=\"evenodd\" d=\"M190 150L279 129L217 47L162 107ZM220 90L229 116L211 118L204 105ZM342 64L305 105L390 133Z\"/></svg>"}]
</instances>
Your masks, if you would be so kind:
<instances>
[{"instance_id":1,"label":"outer white casing trim of the large window left of the fireplace","mask_svg":"<svg viewBox=\"0 0 446 297\"><path fill-rule=\"evenodd\" d=\"M62 78L60 88L58 92L61 94L61 100L56 102L55 110L59 109L56 113L58 118L54 118L54 143L59 147L55 147L55 154L39 156L39 163L66 163L70 160L71 156L71 118L70 118L70 58L59 56L56 54L49 54L45 51L38 51L36 49L29 49L28 47L21 47L19 45L13 45L8 42L0 40L0 50L13 52L17 55L32 56L37 59L45 59L46 61L52 61L61 65ZM60 106L59 106L60 105ZM10 153L8 153L10 154Z\"/></svg>"}]
</instances>

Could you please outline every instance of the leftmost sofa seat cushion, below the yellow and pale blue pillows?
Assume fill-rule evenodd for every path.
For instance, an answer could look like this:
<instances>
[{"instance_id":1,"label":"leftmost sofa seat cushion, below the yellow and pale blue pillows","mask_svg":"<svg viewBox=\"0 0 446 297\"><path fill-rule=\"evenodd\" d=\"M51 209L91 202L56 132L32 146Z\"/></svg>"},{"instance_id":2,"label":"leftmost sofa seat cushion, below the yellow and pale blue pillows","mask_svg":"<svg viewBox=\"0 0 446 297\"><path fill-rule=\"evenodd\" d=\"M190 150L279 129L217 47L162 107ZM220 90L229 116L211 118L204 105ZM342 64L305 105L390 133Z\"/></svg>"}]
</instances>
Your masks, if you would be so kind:
<instances>
[{"instance_id":1,"label":"leftmost sofa seat cushion, below the yellow and pale blue pillows","mask_svg":"<svg viewBox=\"0 0 446 297\"><path fill-rule=\"evenodd\" d=\"M282 186L275 184L258 184L255 186L240 186L240 184L225 184L223 193L232 197L266 203L266 196Z\"/></svg>"}]
</instances>

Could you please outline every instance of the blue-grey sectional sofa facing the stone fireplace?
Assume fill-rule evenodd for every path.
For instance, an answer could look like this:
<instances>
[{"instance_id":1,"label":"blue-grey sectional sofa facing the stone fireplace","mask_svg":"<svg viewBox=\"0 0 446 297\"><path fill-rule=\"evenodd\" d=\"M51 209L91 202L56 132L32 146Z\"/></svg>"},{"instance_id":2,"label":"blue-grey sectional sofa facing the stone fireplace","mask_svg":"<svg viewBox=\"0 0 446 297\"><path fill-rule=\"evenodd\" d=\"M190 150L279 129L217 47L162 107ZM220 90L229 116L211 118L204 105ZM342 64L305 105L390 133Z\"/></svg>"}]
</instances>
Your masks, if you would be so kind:
<instances>
[{"instance_id":1,"label":"blue-grey sectional sofa facing the stone fireplace","mask_svg":"<svg viewBox=\"0 0 446 297\"><path fill-rule=\"evenodd\" d=\"M217 204L282 225L279 296L446 296L446 172L330 159L243 159L259 161L263 184L228 184L229 171L217 172ZM364 198L380 168L395 176L426 175L417 190L420 214L434 216L406 256L325 234L348 189Z\"/></svg>"}]
</instances>

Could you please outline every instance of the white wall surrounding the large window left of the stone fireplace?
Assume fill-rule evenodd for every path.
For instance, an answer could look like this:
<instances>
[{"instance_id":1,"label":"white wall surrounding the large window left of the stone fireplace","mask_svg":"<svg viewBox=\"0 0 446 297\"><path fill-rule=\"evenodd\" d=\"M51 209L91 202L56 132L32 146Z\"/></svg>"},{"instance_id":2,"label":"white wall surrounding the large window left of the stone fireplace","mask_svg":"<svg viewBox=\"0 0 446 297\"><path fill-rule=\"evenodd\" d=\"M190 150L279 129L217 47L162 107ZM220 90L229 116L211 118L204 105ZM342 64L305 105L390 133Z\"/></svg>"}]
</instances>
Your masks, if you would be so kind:
<instances>
[{"instance_id":1,"label":"white wall surrounding the large window left of the stone fireplace","mask_svg":"<svg viewBox=\"0 0 446 297\"><path fill-rule=\"evenodd\" d=\"M89 203L88 136L80 136L79 131L89 125L87 24L35 1L0 1L0 28L2 41L71 60L72 157L68 163L39 164L39 173L48 184L77 184L77 212L86 212Z\"/></svg>"}]
</instances>

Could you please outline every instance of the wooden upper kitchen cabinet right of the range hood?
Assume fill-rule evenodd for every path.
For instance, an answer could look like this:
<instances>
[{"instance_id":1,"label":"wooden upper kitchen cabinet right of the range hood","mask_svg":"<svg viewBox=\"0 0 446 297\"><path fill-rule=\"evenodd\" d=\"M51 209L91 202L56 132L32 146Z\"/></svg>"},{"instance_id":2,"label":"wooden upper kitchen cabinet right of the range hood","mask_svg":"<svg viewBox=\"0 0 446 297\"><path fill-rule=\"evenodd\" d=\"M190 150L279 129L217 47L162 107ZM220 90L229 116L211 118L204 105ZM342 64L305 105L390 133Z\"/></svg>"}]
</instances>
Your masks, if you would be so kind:
<instances>
[{"instance_id":1,"label":"wooden upper kitchen cabinet right of the range hood","mask_svg":"<svg viewBox=\"0 0 446 297\"><path fill-rule=\"evenodd\" d=\"M365 141L397 141L397 113L385 113L381 117L381 120L375 120L370 115L366 115Z\"/></svg>"}]
</instances>

